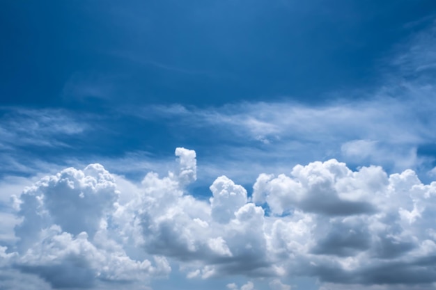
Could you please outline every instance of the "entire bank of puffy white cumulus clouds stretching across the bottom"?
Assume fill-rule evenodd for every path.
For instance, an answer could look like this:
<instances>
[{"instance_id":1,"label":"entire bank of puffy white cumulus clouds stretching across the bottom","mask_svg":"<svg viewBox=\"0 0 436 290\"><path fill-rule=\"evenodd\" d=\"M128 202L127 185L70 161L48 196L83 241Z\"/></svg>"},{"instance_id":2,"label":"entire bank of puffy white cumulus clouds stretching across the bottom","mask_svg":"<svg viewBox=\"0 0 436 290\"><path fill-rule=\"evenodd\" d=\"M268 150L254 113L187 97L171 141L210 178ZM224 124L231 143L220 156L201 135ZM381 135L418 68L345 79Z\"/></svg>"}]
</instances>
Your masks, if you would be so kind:
<instances>
[{"instance_id":1,"label":"entire bank of puffy white cumulus clouds stretching across the bottom","mask_svg":"<svg viewBox=\"0 0 436 290\"><path fill-rule=\"evenodd\" d=\"M0 266L54 289L148 281L173 264L192 279L267 277L274 289L290 289L280 279L297 276L329 285L436 282L436 182L422 184L412 170L317 161L259 175L251 197L218 177L205 200L186 189L195 152L176 155L179 172L150 172L139 186L93 164L26 188L15 198L19 239L0 248Z\"/></svg>"}]
</instances>

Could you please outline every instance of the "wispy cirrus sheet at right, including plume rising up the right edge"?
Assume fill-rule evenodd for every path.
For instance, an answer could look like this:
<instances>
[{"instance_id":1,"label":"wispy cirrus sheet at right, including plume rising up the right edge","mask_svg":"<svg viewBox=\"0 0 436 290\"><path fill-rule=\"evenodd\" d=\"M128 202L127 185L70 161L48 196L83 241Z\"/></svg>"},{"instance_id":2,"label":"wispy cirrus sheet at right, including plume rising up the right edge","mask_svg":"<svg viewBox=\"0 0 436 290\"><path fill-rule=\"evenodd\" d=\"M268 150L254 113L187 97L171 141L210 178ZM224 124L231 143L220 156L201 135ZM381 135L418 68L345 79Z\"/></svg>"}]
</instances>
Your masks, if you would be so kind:
<instances>
[{"instance_id":1,"label":"wispy cirrus sheet at right, including plume rising up the right edge","mask_svg":"<svg viewBox=\"0 0 436 290\"><path fill-rule=\"evenodd\" d=\"M430 170L433 156L423 156L420 148L436 141L430 125L436 121L436 90L428 81L434 72L423 68L424 63L435 63L434 46L430 27L397 47L387 61L391 71L382 74L379 88L334 92L332 101L322 104L239 102L206 108L171 104L125 113L185 129L182 134L212 131L212 143L227 146L223 151L228 157L247 163L262 159L263 166L272 159L288 161L286 156L292 155L297 162L340 158L356 166Z\"/></svg>"}]
</instances>

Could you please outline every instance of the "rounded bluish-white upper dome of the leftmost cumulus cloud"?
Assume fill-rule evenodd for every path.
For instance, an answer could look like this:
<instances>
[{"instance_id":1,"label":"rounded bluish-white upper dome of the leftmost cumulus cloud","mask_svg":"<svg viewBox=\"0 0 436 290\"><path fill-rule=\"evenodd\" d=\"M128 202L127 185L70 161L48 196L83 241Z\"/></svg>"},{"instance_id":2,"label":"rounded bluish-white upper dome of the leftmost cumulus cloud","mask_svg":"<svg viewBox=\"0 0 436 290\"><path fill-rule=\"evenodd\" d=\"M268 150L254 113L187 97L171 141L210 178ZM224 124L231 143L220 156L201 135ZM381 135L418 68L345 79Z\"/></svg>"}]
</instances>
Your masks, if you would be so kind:
<instances>
[{"instance_id":1,"label":"rounded bluish-white upper dome of the leftmost cumulus cloud","mask_svg":"<svg viewBox=\"0 0 436 290\"><path fill-rule=\"evenodd\" d=\"M37 235L51 224L71 234L87 232L93 236L117 195L114 179L100 164L87 166L83 171L67 168L44 177L26 188L17 200L19 214L24 218L16 230L20 243L37 238L30 233Z\"/></svg>"}]
</instances>

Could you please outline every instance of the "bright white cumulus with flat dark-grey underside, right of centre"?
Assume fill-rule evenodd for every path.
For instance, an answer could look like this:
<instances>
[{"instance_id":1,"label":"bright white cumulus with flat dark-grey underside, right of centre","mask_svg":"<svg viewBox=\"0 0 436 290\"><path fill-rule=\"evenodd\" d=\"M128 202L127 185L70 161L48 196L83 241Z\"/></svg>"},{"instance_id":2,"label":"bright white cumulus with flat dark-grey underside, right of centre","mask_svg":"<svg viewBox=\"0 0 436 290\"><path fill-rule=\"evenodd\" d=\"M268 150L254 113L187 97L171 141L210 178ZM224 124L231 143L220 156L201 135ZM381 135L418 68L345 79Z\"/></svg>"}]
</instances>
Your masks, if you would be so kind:
<instances>
[{"instance_id":1,"label":"bright white cumulus with flat dark-grey underside, right of centre","mask_svg":"<svg viewBox=\"0 0 436 290\"><path fill-rule=\"evenodd\" d=\"M335 159L295 166L291 175L260 175L254 184L254 202L265 200L274 214L293 209L327 215L364 214L375 211L369 199L387 184L380 168L352 172Z\"/></svg>"}]
</instances>

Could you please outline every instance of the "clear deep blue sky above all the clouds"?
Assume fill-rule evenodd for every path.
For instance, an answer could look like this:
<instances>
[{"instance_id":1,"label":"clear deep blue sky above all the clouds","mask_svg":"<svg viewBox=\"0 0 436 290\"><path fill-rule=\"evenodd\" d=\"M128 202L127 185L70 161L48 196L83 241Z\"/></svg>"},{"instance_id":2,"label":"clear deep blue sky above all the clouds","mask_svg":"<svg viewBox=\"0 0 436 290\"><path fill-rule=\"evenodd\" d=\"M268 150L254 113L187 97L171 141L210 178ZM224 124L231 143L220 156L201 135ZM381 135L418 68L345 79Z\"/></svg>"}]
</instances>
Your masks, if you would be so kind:
<instances>
[{"instance_id":1,"label":"clear deep blue sky above all the clouds","mask_svg":"<svg viewBox=\"0 0 436 290\"><path fill-rule=\"evenodd\" d=\"M380 84L380 63L435 11L431 0L2 1L1 104L320 102Z\"/></svg>"}]
</instances>

